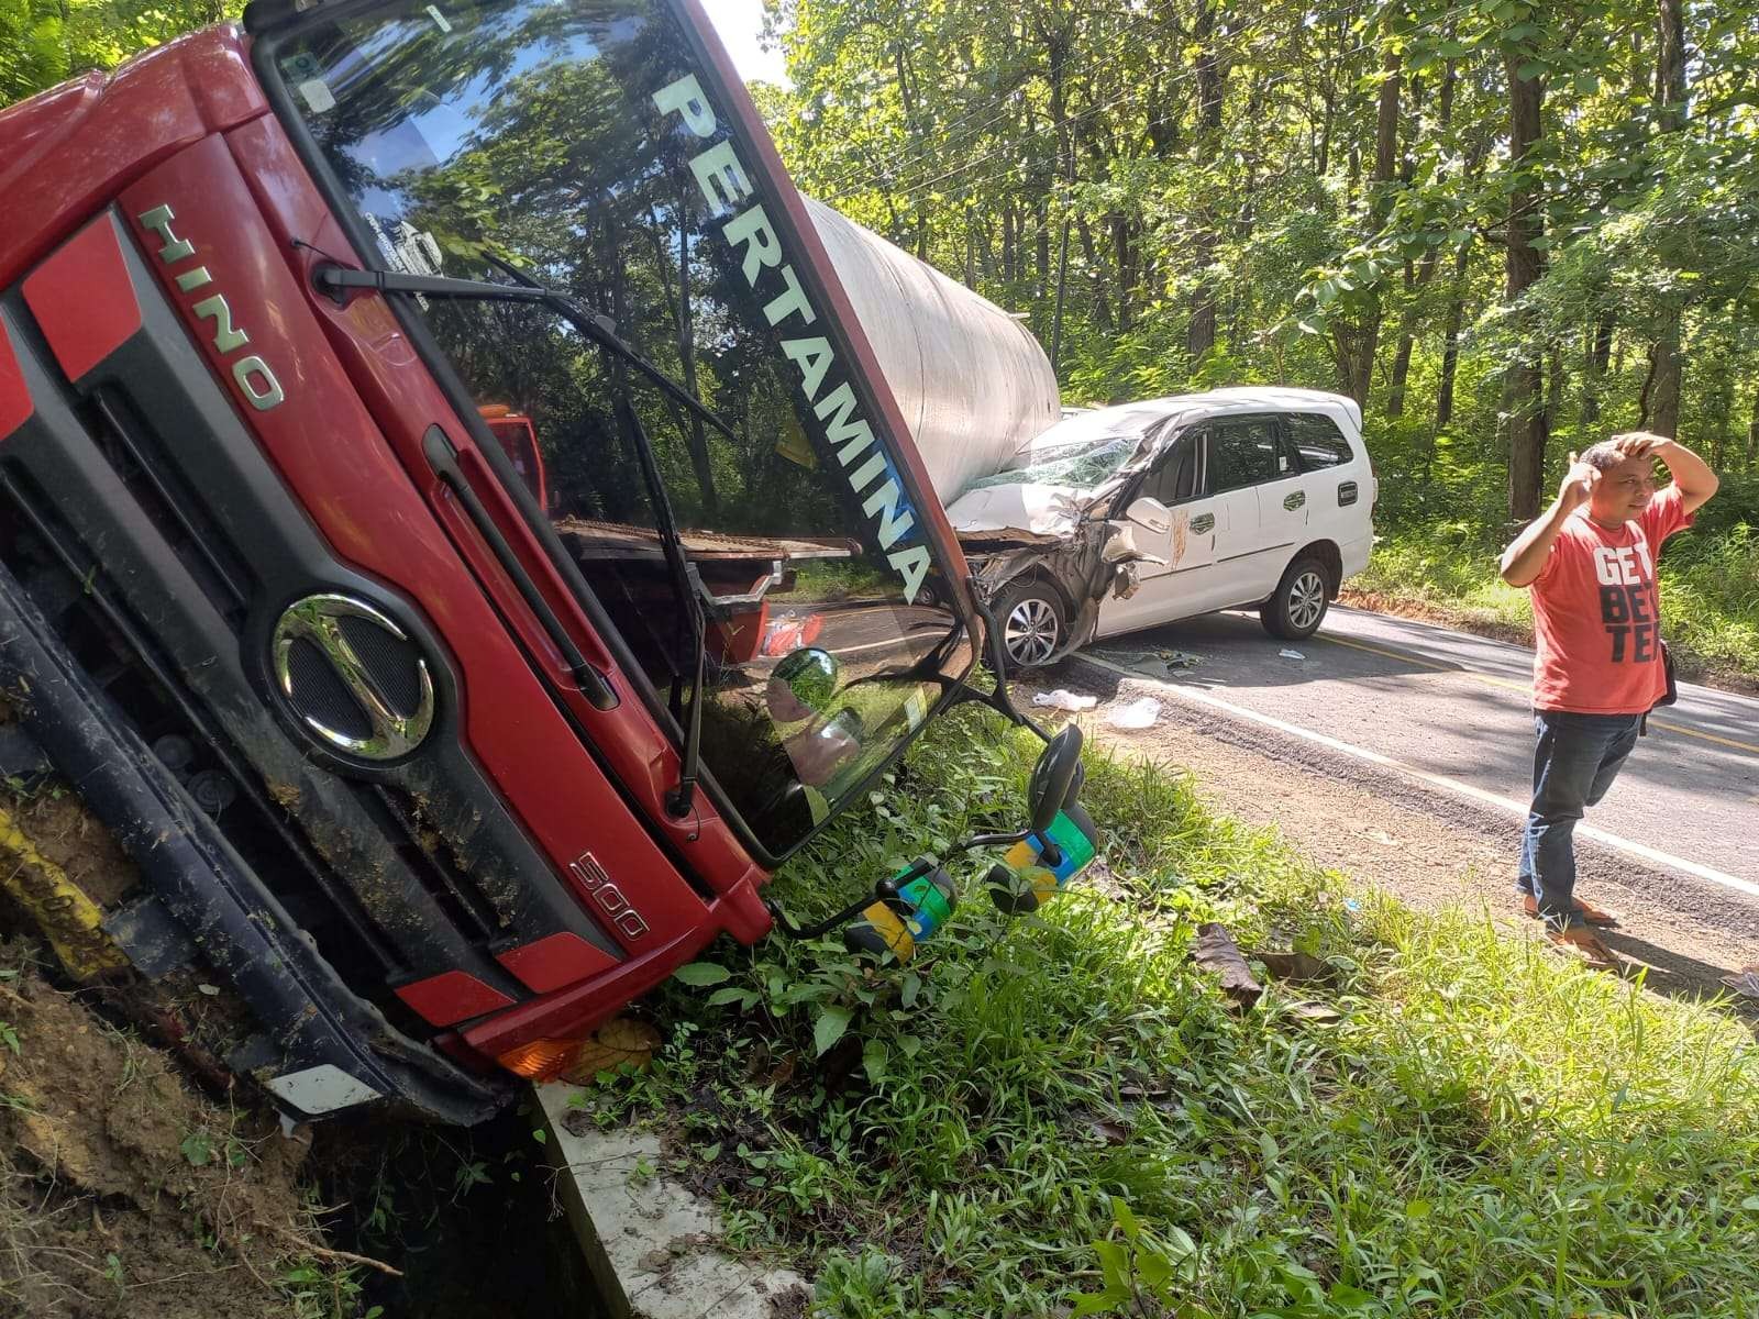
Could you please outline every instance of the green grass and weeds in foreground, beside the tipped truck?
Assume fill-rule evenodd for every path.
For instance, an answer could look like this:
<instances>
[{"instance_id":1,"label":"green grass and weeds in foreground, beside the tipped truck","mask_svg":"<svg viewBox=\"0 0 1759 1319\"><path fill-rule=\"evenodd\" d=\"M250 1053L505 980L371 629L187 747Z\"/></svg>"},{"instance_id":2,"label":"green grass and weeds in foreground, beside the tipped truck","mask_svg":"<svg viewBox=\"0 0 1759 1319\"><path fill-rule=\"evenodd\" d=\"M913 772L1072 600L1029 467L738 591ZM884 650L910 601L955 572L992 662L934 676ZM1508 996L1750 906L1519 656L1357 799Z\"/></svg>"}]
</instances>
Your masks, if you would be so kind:
<instances>
[{"instance_id":1,"label":"green grass and weeds in foreground, beside the tipped truck","mask_svg":"<svg viewBox=\"0 0 1759 1319\"><path fill-rule=\"evenodd\" d=\"M1034 746L990 723L932 732L776 893L828 911L1011 821ZM1353 890L1177 774L1091 754L1084 798L1103 865L1038 916L973 893L908 969L714 950L591 1106L667 1113L825 1315L1759 1312L1759 1059L1719 1008ZM1330 958L1340 1020L1312 987L1230 1009L1201 920Z\"/></svg>"}]
</instances>

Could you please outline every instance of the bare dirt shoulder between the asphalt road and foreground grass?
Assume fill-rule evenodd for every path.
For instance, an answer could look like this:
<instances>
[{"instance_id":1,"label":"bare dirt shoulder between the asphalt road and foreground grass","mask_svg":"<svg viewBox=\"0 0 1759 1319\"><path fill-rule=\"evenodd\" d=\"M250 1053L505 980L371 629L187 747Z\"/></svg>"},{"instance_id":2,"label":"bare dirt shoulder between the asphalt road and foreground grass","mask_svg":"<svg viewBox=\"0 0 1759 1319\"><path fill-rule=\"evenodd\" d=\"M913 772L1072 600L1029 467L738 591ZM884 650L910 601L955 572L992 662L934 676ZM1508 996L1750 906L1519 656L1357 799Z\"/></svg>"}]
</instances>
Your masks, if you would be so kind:
<instances>
[{"instance_id":1,"label":"bare dirt shoulder between the asphalt road and foreground grass","mask_svg":"<svg viewBox=\"0 0 1759 1319\"><path fill-rule=\"evenodd\" d=\"M1089 739L1120 754L1143 756L1196 777L1200 795L1237 820L1275 827L1316 864L1391 890L1416 907L1483 907L1522 930L1513 893L1520 823L1471 800L1381 772L1274 730L1186 705L1161 689L1120 679L1080 661L1017 684L1022 703L1034 691L1068 688L1094 695L1096 711L1077 716ZM1161 700L1154 726L1120 732L1105 721L1113 700ZM1066 719L1057 711L1034 716ZM1583 897L1622 922L1606 932L1632 967L1646 967L1657 992L1710 997L1726 992L1722 976L1754 960L1759 920L1703 920L1675 900L1666 874L1632 865L1629 856L1578 841ZM1759 1009L1759 1004L1754 1004Z\"/></svg>"}]
</instances>

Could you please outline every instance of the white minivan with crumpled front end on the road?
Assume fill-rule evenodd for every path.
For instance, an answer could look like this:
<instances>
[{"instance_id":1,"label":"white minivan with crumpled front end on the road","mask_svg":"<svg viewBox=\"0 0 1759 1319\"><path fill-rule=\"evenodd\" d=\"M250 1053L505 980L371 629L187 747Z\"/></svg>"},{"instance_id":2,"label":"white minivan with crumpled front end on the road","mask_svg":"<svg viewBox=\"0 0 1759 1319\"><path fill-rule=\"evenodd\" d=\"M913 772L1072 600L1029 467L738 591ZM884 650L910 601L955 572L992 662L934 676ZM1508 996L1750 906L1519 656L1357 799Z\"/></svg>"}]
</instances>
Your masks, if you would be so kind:
<instances>
[{"instance_id":1,"label":"white minivan with crumpled front end on the road","mask_svg":"<svg viewBox=\"0 0 1759 1319\"><path fill-rule=\"evenodd\" d=\"M1024 457L946 510L1018 668L1217 608L1309 637L1369 563L1377 487L1340 394L1126 403L1059 422Z\"/></svg>"}]
</instances>

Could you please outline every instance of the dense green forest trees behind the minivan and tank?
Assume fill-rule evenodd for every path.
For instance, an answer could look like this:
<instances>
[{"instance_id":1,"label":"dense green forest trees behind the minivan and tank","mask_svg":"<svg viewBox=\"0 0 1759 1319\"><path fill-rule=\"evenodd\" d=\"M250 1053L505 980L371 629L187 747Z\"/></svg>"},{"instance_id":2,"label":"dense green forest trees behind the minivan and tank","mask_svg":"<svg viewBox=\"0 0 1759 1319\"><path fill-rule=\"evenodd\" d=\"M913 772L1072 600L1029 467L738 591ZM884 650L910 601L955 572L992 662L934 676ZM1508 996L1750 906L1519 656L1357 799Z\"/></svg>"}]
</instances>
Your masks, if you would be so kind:
<instances>
[{"instance_id":1,"label":"dense green forest trees behind the minivan and tank","mask_svg":"<svg viewBox=\"0 0 1759 1319\"><path fill-rule=\"evenodd\" d=\"M770 0L800 186L1075 401L1337 389L1513 515L1613 427L1754 463L1759 18L1685 0ZM1490 494L1486 496L1485 491Z\"/></svg>"}]
</instances>

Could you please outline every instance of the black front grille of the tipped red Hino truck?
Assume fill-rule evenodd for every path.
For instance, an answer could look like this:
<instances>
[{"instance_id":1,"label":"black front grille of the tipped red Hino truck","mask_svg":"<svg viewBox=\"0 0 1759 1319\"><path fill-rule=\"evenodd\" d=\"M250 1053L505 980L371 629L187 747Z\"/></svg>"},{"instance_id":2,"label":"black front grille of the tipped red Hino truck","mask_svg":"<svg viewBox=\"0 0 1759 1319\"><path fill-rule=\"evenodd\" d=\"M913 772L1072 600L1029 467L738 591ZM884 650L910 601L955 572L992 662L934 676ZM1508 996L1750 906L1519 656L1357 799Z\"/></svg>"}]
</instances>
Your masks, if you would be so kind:
<instances>
[{"instance_id":1,"label":"black front grille of the tipped red Hino truck","mask_svg":"<svg viewBox=\"0 0 1759 1319\"><path fill-rule=\"evenodd\" d=\"M334 561L109 223L142 327L81 378L60 371L28 290L0 295L0 332L35 406L0 436L0 561L350 988L394 1020L417 1025L399 987L447 973L473 976L489 999L529 997L496 953L559 930L621 957L456 721L436 723L419 756L368 772L331 763L299 735L297 712L276 712L267 638L306 594L373 601L440 670L443 647L383 584ZM350 644L385 674L389 698L410 696L398 689L408 656L387 649L396 638L364 628ZM322 656L292 661L303 712L345 732L364 719ZM456 679L436 681L456 711Z\"/></svg>"}]
</instances>

